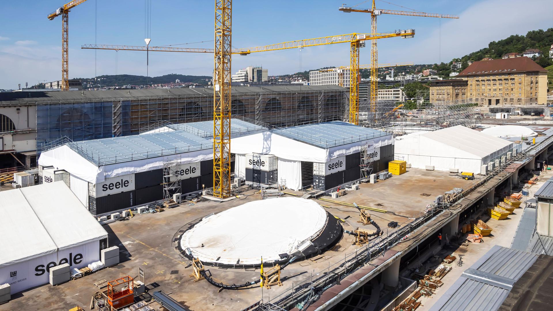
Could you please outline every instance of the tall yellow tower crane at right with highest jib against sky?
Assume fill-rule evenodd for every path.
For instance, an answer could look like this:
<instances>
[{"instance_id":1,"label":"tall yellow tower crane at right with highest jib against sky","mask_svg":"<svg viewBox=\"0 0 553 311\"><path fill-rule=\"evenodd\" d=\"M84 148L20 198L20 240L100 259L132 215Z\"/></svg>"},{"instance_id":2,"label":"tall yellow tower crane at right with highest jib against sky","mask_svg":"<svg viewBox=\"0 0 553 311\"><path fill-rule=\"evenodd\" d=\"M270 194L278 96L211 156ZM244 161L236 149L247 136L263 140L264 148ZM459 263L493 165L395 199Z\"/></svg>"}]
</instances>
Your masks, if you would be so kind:
<instances>
[{"instance_id":1,"label":"tall yellow tower crane at right with highest jib against sky","mask_svg":"<svg viewBox=\"0 0 553 311\"><path fill-rule=\"evenodd\" d=\"M374 6L374 1L375 0L373 0L373 6L370 9L346 7L345 5L342 5L339 8L339 10L346 13L349 13L349 12L371 13L371 32L372 33L377 32L377 16L380 14L437 17L437 18L459 18L458 15L377 9ZM405 38L408 38L408 37L405 37ZM377 121L376 120L376 112L377 112L376 101L377 101L377 89L378 89L377 64L378 64L377 40L372 40L371 42L371 92L369 92L369 96L371 101L371 112L373 113L374 122Z\"/></svg>"}]
</instances>

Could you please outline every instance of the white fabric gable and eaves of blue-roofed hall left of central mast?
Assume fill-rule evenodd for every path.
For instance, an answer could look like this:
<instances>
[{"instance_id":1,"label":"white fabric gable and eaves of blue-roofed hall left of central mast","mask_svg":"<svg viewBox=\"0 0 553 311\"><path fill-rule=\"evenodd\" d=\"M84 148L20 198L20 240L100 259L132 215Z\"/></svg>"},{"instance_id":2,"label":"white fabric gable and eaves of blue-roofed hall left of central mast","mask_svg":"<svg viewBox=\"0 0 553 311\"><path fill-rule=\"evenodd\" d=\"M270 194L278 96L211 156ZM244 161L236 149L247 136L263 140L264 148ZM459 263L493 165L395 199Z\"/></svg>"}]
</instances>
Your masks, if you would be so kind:
<instances>
[{"instance_id":1,"label":"white fabric gable and eaves of blue-roofed hall left of central mast","mask_svg":"<svg viewBox=\"0 0 553 311\"><path fill-rule=\"evenodd\" d=\"M180 154L181 164L211 159L213 159L212 149L204 149ZM163 168L163 161L163 157L156 157L97 167L95 164L89 162L80 154L73 151L67 145L63 145L41 153L38 162L39 165L52 165L55 168L65 169L75 177L86 180L92 184L98 184L110 177Z\"/></svg>"}]
</instances>

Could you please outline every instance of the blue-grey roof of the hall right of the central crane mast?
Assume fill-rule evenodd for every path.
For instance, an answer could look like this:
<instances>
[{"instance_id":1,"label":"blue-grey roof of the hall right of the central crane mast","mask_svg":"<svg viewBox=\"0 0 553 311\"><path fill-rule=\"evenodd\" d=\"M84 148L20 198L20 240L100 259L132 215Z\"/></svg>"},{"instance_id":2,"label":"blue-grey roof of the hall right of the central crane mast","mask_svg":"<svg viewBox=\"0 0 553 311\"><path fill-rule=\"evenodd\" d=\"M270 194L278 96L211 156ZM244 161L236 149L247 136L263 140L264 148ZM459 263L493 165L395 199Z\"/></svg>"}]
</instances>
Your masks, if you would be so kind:
<instances>
[{"instance_id":1,"label":"blue-grey roof of the hall right of the central crane mast","mask_svg":"<svg viewBox=\"0 0 553 311\"><path fill-rule=\"evenodd\" d=\"M342 121L291 126L273 129L271 132L321 148L330 148L390 135L377 129Z\"/></svg>"}]
</instances>

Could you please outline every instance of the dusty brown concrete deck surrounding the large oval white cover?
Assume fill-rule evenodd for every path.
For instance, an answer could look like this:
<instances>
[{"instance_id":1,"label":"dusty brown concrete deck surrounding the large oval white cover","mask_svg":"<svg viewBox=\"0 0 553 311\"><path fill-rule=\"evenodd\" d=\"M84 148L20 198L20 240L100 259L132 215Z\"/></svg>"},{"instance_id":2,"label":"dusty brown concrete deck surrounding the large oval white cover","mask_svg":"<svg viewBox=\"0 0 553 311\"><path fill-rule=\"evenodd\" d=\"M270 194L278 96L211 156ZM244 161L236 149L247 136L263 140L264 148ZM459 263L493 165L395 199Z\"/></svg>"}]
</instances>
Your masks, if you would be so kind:
<instances>
[{"instance_id":1,"label":"dusty brown concrete deck surrounding the large oval white cover","mask_svg":"<svg viewBox=\"0 0 553 311\"><path fill-rule=\"evenodd\" d=\"M393 211L397 215L369 211L372 219L384 230L384 234L389 234L392 229L388 229L388 222L397 221L401 225L401 223L409 221L409 217L424 211L426 204L431 203L437 195L455 187L462 188L469 182L453 177L448 172L410 168L403 175L394 175L392 178L379 181L376 184L362 184L360 190L349 192L338 198L337 201ZM102 279L110 281L123 276L137 277L138 268L143 268L145 271L145 282L148 289L158 288L165 293L170 293L171 297L191 310L241 310L260 300L262 289L259 286L254 286L250 289L218 292L218 288L207 281L194 282L189 277L192 268L185 268L189 261L175 251L171 239L175 232L189 222L247 201L259 200L260 194L257 192L258 190L248 190L243 193L242 199L224 203L215 201L201 201L194 205L183 203L174 209L166 209L155 214L135 215L132 219L105 225L109 234L109 245L120 247L121 263L119 265L102 269L59 286L46 284L14 294L10 302L0 305L0 311L64 310L76 305L88 310L92 294L98 291L93 283ZM286 192L294 193L289 190ZM325 198L330 197L325 196ZM354 230L358 226L374 229L372 225L358 224L359 213L351 206L321 200L318 202L328 206L327 210L331 214L346 220L345 230ZM259 215L259 221L267 222L268 230L279 230L278 224L270 222L270 215ZM301 219L291 218L290 221L301 225ZM289 292L293 286L297 287L301 283L309 282L311 273L314 273L312 277L316 278L318 277L317 273L325 272L329 266L340 265L345 256L351 256L356 250L359 250L358 247L352 245L352 242L353 236L344 234L332 250L322 254L327 257L316 262L304 260L292 263L281 273L283 286L263 289L263 298L265 300L274 299L280 294ZM469 265L467 264L467 266ZM206 267L206 269L210 270L215 281L226 284L241 284L259 278L259 269L213 267ZM153 307L155 306L156 304L153 304Z\"/></svg>"}]
</instances>

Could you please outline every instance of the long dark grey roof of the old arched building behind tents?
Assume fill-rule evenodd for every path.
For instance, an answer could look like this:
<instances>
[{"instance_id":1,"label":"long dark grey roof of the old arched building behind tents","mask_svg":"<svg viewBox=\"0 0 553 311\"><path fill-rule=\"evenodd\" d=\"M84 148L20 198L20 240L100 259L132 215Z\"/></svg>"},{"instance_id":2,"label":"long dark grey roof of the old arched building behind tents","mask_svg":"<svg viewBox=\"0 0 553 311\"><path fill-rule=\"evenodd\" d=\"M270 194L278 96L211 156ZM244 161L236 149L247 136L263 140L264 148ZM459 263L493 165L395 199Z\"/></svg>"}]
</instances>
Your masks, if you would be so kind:
<instances>
[{"instance_id":1,"label":"long dark grey roof of the old arched building behind tents","mask_svg":"<svg viewBox=\"0 0 553 311\"><path fill-rule=\"evenodd\" d=\"M302 86L233 86L231 94L276 93L301 91L348 91L337 85ZM181 87L176 89L106 90L106 91L52 91L52 92L5 92L0 93L0 105L8 103L35 103L38 101L112 101L133 100L140 97L213 96L211 87Z\"/></svg>"}]
</instances>

